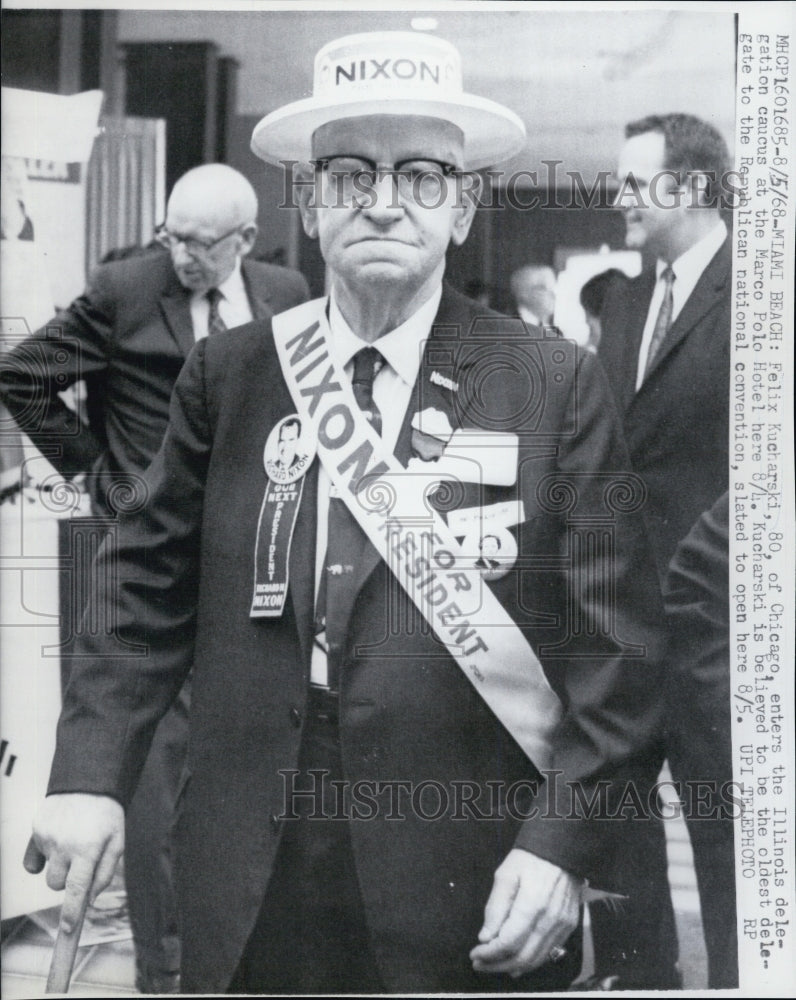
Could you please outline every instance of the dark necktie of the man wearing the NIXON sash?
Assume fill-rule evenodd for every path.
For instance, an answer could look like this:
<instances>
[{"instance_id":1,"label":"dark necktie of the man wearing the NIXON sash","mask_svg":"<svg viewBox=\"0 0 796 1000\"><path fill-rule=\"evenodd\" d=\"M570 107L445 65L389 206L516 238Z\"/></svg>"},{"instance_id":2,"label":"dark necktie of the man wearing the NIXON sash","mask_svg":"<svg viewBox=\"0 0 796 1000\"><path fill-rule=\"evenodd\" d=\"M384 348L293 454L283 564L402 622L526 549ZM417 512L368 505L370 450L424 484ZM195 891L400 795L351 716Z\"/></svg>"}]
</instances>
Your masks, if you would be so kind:
<instances>
[{"instance_id":1,"label":"dark necktie of the man wearing the NIXON sash","mask_svg":"<svg viewBox=\"0 0 796 1000\"><path fill-rule=\"evenodd\" d=\"M363 347L354 355L351 379L354 398L377 434L381 434L381 412L373 399L373 381L383 366L384 358L375 347ZM345 629L356 598L356 567L365 544L365 534L345 501L330 496L326 558L315 606L315 635L316 642L326 649L327 684L332 691L339 690Z\"/></svg>"}]
</instances>

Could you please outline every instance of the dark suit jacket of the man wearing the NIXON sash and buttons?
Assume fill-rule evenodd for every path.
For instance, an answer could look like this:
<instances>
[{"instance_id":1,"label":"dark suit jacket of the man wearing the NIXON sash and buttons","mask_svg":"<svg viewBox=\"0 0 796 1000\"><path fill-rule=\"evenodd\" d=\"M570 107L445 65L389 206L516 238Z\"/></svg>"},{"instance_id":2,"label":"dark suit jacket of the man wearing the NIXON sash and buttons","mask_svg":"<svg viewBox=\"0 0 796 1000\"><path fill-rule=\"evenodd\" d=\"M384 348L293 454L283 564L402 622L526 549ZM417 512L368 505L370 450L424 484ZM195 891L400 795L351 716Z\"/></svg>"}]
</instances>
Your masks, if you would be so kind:
<instances>
[{"instance_id":1,"label":"dark suit jacket of the man wearing the NIXON sash and buttons","mask_svg":"<svg viewBox=\"0 0 796 1000\"><path fill-rule=\"evenodd\" d=\"M649 777L646 745L659 724L657 579L599 365L496 314L486 328L471 326L484 312L445 290L396 455L410 457L411 418L427 406L442 408L454 427L520 434L515 486L466 484L446 502L524 501L517 567L492 589L565 706L554 741L560 801L548 810L542 795L537 805L549 817L531 815L538 772L414 607L405 601L395 611L398 588L366 545L342 665L340 736L349 792L371 802L359 799L350 831L374 955L391 991L489 988L468 951L495 868L515 844L621 888L616 824L573 819L563 783L590 796L599 780L613 779L615 802L626 780ZM459 391L434 384L435 370ZM263 448L294 410L269 323L193 350L146 476L150 500L122 518L116 551L100 557L99 600L115 603L118 631L86 636L59 725L51 792L89 790L126 803L157 719L193 665L175 826L187 992L226 988L288 822L279 817L302 737L312 647L317 462L295 527L284 613L252 619L249 609ZM111 576L115 591L103 583ZM411 789L424 781L442 786L442 817L429 819L428 799L413 808ZM387 783L381 793L377 782ZM401 792L398 782L410 784Z\"/></svg>"}]
</instances>

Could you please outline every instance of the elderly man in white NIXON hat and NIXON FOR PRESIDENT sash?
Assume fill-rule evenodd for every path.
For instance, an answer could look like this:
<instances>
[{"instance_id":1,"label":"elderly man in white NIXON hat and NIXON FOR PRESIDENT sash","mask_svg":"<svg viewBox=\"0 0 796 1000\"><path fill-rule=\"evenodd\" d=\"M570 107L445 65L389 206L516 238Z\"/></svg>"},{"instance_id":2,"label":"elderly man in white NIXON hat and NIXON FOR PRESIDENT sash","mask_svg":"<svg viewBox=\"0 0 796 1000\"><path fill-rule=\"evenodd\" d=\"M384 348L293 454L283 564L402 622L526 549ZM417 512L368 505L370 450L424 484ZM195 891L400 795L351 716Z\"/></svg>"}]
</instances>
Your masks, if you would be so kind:
<instances>
[{"instance_id":1,"label":"elderly man in white NIXON hat and NIXON FOR PRESIDENT sash","mask_svg":"<svg viewBox=\"0 0 796 1000\"><path fill-rule=\"evenodd\" d=\"M331 293L192 352L98 595L142 655L84 646L27 863L75 933L193 666L184 989L563 989L659 718L638 482L594 360L443 281L519 119L432 36L315 69L253 148L305 164ZM302 460L269 476L297 418Z\"/></svg>"}]
</instances>

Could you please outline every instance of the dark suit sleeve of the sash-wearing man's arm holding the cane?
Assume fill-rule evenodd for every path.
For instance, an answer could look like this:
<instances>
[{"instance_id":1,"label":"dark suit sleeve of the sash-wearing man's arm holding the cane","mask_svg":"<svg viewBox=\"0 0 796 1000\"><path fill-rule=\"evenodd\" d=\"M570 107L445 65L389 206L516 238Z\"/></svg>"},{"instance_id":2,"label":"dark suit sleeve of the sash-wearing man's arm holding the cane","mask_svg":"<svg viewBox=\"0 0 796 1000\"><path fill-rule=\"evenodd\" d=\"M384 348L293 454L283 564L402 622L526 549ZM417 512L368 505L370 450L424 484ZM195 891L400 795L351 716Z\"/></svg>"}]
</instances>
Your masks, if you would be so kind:
<instances>
[{"instance_id":1,"label":"dark suit sleeve of the sash-wearing man's arm holding the cane","mask_svg":"<svg viewBox=\"0 0 796 1000\"><path fill-rule=\"evenodd\" d=\"M191 669L211 447L205 346L177 381L145 505L111 527L93 564L85 620L106 627L85 628L77 640L49 794L92 792L126 806L155 727Z\"/></svg>"}]
</instances>

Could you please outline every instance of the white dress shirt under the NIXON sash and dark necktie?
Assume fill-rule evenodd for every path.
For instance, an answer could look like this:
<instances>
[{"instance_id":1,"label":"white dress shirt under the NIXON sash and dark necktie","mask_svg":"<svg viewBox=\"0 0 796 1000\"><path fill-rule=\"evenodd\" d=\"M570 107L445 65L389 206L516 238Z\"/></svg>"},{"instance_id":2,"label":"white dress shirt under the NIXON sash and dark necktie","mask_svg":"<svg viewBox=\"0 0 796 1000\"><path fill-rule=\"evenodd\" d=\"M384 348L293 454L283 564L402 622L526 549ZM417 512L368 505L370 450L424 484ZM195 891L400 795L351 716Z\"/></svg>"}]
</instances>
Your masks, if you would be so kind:
<instances>
[{"instance_id":1,"label":"white dress shirt under the NIXON sash and dark necktie","mask_svg":"<svg viewBox=\"0 0 796 1000\"><path fill-rule=\"evenodd\" d=\"M420 371L426 341L439 309L442 286L406 322L379 337L373 344L358 337L343 318L332 296L329 303L329 350L348 375L354 373L353 357L363 347L376 347L385 360L373 381L373 400L381 412L381 438L392 453L398 441L404 415L412 397L412 389ZM317 598L321 574L324 572L327 535L329 530L329 488L331 481L321 465L318 472L318 524L315 533L315 595ZM326 654L316 645L312 648L310 678L313 684L325 686Z\"/></svg>"}]
</instances>

